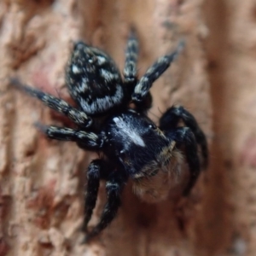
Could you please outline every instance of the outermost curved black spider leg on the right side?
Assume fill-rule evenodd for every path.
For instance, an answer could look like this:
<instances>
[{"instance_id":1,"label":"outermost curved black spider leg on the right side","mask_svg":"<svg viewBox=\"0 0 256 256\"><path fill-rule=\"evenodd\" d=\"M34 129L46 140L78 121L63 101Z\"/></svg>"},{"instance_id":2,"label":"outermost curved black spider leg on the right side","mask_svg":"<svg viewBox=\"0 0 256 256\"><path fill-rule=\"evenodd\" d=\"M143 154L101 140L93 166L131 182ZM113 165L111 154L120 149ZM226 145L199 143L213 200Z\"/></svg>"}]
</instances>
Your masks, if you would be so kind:
<instances>
[{"instance_id":1,"label":"outermost curved black spider leg on the right side","mask_svg":"<svg viewBox=\"0 0 256 256\"><path fill-rule=\"evenodd\" d=\"M182 106L172 106L168 108L166 113L160 118L160 129L162 131L168 131L175 129L178 125L178 122L182 120L184 125L188 126L191 131L194 133L196 143L201 147L202 155L202 166L207 168L208 165L208 148L207 148L207 138L203 131L201 131L200 126L195 120L195 117L189 113L188 110Z\"/></svg>"}]
</instances>

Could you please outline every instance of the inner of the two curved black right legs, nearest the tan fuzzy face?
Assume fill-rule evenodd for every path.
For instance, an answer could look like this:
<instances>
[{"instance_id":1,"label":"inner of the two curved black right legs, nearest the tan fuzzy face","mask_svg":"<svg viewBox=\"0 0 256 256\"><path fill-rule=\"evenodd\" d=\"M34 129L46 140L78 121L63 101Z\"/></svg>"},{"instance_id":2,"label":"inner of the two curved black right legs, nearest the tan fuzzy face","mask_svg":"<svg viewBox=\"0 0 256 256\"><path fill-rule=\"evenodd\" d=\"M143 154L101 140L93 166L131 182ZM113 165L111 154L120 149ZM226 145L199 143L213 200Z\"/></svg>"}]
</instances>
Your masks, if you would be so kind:
<instances>
[{"instance_id":1,"label":"inner of the two curved black right legs, nearest the tan fuzzy face","mask_svg":"<svg viewBox=\"0 0 256 256\"><path fill-rule=\"evenodd\" d=\"M180 127L172 131L166 131L166 136L174 140L178 148L184 145L185 155L189 164L190 178L189 183L183 190L183 195L189 195L201 171L195 136L189 127Z\"/></svg>"}]
</instances>

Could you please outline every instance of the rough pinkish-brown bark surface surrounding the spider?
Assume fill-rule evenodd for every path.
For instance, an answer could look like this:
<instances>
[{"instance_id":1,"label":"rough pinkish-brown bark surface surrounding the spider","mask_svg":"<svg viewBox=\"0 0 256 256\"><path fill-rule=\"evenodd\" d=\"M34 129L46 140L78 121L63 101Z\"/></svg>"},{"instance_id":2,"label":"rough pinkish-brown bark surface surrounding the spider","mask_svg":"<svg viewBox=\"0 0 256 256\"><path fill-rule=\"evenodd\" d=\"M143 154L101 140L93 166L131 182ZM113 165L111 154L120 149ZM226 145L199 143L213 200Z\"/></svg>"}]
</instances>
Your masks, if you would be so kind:
<instances>
[{"instance_id":1,"label":"rough pinkish-brown bark surface surrounding the spider","mask_svg":"<svg viewBox=\"0 0 256 256\"><path fill-rule=\"evenodd\" d=\"M255 19L253 0L0 1L0 256L255 255ZM86 167L96 154L42 136L35 122L67 119L9 78L72 102L64 71L73 41L106 50L122 70L131 26L140 75L185 40L151 89L148 115L157 122L173 104L187 108L207 135L210 166L188 198L170 191L151 205L128 183L117 218L81 244ZM101 183L90 226L105 201Z\"/></svg>"}]
</instances>

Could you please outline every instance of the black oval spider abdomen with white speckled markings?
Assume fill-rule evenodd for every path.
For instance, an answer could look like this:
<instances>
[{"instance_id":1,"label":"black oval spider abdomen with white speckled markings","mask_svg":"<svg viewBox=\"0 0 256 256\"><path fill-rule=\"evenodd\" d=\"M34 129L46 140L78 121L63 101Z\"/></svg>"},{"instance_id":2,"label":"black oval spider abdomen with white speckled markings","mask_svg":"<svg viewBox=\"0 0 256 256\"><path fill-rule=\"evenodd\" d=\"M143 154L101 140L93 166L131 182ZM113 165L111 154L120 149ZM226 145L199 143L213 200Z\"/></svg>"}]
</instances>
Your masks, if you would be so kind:
<instances>
[{"instance_id":1,"label":"black oval spider abdomen with white speckled markings","mask_svg":"<svg viewBox=\"0 0 256 256\"><path fill-rule=\"evenodd\" d=\"M123 81L114 61L83 42L74 46L66 81L73 100L87 114L101 115L122 103Z\"/></svg>"}]
</instances>

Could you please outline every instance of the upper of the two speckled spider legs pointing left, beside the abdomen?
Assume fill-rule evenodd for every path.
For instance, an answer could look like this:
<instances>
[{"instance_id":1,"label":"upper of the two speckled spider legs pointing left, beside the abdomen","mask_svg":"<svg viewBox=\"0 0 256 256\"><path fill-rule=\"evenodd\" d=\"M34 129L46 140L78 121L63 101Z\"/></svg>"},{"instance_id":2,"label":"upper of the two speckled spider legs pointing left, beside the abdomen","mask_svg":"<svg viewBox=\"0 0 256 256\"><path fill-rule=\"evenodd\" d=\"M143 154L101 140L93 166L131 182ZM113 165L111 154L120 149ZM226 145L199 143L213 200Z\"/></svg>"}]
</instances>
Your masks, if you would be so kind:
<instances>
[{"instance_id":1,"label":"upper of the two speckled spider legs pointing left, beside the abdomen","mask_svg":"<svg viewBox=\"0 0 256 256\"><path fill-rule=\"evenodd\" d=\"M69 119L73 120L78 125L88 127L91 125L92 120L86 115L83 111L80 111L77 108L73 108L67 102L52 96L48 93L44 93L41 90L37 90L26 84L20 83L18 79L11 79L11 84L14 84L19 90L23 90L28 95L38 98L45 106L54 109L55 111L62 113L67 116Z\"/></svg>"}]
</instances>

